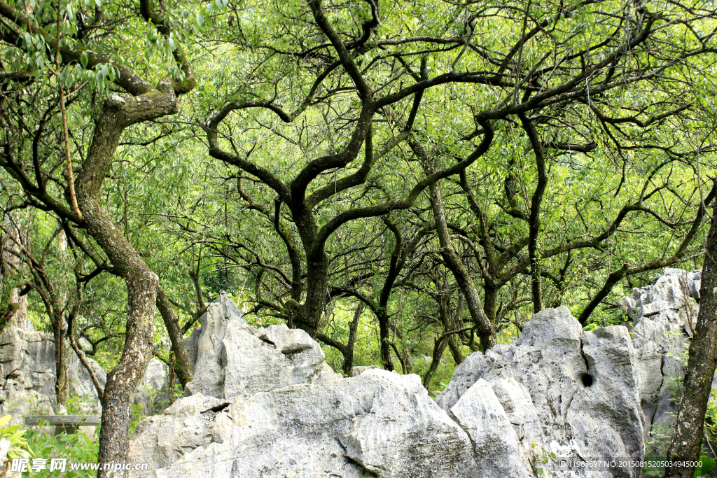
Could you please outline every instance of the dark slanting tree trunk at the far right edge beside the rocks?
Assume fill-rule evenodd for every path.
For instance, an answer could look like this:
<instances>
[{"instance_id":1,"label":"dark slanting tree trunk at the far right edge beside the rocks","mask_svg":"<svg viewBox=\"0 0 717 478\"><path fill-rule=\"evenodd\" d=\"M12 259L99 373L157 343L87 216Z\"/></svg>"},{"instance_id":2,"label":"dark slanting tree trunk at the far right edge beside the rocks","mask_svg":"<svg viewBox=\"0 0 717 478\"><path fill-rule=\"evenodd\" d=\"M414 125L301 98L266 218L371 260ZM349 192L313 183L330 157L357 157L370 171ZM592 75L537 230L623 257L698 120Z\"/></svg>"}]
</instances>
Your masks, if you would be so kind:
<instances>
[{"instance_id":1,"label":"dark slanting tree trunk at the far right edge beside the rocks","mask_svg":"<svg viewBox=\"0 0 717 478\"><path fill-rule=\"evenodd\" d=\"M702 267L700 313L690 343L668 462L695 462L700 457L707 402L717 366L717 201L712 214ZM692 478L694 472L694 467L665 467L665 478Z\"/></svg>"}]
</instances>

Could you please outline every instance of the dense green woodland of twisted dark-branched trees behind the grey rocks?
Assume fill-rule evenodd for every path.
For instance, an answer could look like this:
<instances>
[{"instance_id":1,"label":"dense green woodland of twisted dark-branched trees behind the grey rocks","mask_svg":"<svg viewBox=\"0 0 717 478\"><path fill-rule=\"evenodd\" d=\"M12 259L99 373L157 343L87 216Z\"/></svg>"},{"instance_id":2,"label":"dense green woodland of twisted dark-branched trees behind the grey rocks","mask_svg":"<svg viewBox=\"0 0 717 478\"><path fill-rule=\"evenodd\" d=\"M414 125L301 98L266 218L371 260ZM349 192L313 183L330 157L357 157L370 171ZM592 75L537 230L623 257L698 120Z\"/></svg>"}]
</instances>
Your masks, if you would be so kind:
<instances>
[{"instance_id":1,"label":"dense green woodland of twisted dark-branched trees behind the grey rocks","mask_svg":"<svg viewBox=\"0 0 717 478\"><path fill-rule=\"evenodd\" d=\"M224 290L434 394L545 307L622 324L702 267L715 9L0 0L4 322L14 290L116 377L184 383Z\"/></svg>"}]
</instances>

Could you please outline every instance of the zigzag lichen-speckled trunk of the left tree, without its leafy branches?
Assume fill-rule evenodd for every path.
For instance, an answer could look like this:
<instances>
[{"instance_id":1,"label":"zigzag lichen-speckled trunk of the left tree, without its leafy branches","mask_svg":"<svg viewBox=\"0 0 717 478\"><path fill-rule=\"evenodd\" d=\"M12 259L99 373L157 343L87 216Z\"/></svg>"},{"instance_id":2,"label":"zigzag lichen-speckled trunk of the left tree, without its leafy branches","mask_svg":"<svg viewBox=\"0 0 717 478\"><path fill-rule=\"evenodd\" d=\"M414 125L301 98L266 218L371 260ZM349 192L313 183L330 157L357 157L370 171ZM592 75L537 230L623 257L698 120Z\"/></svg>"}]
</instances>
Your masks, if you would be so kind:
<instances>
[{"instance_id":1,"label":"zigzag lichen-speckled trunk of the left tree, without its leafy branches","mask_svg":"<svg viewBox=\"0 0 717 478\"><path fill-rule=\"evenodd\" d=\"M107 254L113 273L125 280L128 297L122 355L107 376L102 398L100 464L125 462L127 458L131 397L153 355L158 277L105 213L99 198L125 128L178 110L176 95L167 80L156 88L138 78L133 81L129 86L136 90L136 96L112 95L105 100L76 183L77 205L85 229ZM110 476L109 470L100 468L98 478Z\"/></svg>"}]
</instances>

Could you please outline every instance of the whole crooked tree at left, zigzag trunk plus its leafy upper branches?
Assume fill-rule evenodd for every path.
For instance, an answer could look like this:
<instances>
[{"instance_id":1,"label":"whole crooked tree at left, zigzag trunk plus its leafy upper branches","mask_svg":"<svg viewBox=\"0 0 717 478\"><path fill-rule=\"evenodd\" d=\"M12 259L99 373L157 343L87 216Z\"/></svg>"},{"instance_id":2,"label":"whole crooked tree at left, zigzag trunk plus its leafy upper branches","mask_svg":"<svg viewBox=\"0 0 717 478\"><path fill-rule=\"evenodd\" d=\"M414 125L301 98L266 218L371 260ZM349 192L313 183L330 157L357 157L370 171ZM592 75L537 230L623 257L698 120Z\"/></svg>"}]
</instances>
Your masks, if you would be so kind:
<instances>
[{"instance_id":1,"label":"whole crooked tree at left, zigzag trunk plus its leafy upper branches","mask_svg":"<svg viewBox=\"0 0 717 478\"><path fill-rule=\"evenodd\" d=\"M166 42L174 43L170 22L154 11L151 2L143 1L140 10L139 19L154 24ZM158 277L103 209L103 182L110 172L123 131L132 125L176 113L177 95L190 92L195 80L183 49L177 44L172 55L181 70L178 79L164 78L156 86L152 85L129 67L98 53L103 50L101 44L92 45L92 35L87 36L88 30L91 33L103 20L103 13L109 12L96 9L94 23L89 28L86 25L83 28L82 19L85 16L82 12L76 16L74 13L69 3L64 9L61 5L47 3L40 9L21 10L0 2L0 16L4 19L3 39L11 48L13 66L19 67L23 62L30 65L29 71L16 70L9 76L20 81L10 83L9 93L14 96L16 105L27 107L28 103L32 103L32 97L26 96L47 93L47 88L43 86L53 80L58 92L58 100L52 101L44 110L37 130L32 131L29 137L24 134L29 132L29 128L22 118L9 115L4 110L4 153L0 163L22 186L28 206L52 211L61 221L87 231L109 259L109 263L99 262L98 266L111 268L113 274L125 281L129 305L125 343L118 365L108 374L103 393L103 426L98 456L101 463L121 462L127 451L130 397L153 352L153 315ZM48 25L50 14L56 21ZM123 16L121 9L112 14ZM135 15L132 17L137 18ZM98 39L101 43L101 37ZM26 55L31 59L27 60ZM54 69L49 66L52 57ZM24 84L34 83L36 78L43 80L36 84L30 95L25 95ZM81 90L87 81L104 86L105 80L113 82L128 96L110 95L99 106L92 126L92 142L75 180L66 114L67 103L74 102L75 98L70 95L70 100L66 101L64 89L74 83L76 91ZM51 166L47 160L52 160L52 148L43 150L43 140L49 139L43 138L43 133L47 133L45 128L57 106L62 113L61 144L65 146L65 154L60 157L67 160L64 178L54 176L57 166L47 170ZM24 157L25 140L31 138L32 155L28 161ZM62 168L60 171L63 171ZM100 477L106 474L105 471L99 472Z\"/></svg>"}]
</instances>

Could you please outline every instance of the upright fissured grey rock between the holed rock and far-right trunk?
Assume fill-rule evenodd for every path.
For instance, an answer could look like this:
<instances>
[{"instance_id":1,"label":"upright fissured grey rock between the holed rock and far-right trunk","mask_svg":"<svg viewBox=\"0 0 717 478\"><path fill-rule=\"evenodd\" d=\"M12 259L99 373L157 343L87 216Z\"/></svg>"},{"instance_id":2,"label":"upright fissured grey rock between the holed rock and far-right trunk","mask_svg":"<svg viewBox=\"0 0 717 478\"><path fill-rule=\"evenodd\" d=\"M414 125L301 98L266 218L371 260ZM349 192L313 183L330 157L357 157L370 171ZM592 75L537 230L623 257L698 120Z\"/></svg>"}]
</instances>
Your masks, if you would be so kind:
<instances>
[{"instance_id":1,"label":"upright fissured grey rock between the holed rock and far-right trunk","mask_svg":"<svg viewBox=\"0 0 717 478\"><path fill-rule=\"evenodd\" d=\"M655 283L635 287L621 305L632 320L645 441L653 427L671 429L678 403L670 386L685 375L683 353L697 322L701 271L666 268Z\"/></svg>"}]
</instances>

